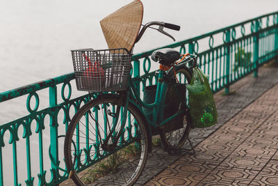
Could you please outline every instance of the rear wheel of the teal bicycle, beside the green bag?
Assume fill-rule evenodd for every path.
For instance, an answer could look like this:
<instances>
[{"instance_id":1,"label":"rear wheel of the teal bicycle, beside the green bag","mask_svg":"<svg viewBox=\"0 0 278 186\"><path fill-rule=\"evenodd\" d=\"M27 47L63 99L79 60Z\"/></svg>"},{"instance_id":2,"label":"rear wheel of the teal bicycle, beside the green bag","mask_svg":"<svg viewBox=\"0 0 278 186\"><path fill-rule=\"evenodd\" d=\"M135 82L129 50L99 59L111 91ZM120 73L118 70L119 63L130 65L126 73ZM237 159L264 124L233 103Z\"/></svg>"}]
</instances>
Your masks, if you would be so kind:
<instances>
[{"instance_id":1,"label":"rear wheel of the teal bicycle, beside the green bag","mask_svg":"<svg viewBox=\"0 0 278 186\"><path fill-rule=\"evenodd\" d=\"M177 70L177 79L179 79L179 83L181 84L188 84L191 81L191 73L189 72L188 68L186 67L182 67L179 70ZM167 88L167 93L166 93L166 100L165 100L165 104L167 104L167 102L170 102L171 100L168 100L169 98L174 98L175 100L177 100L178 93L177 91L172 91L173 86L169 86ZM172 93L172 95L170 95L170 93ZM188 92L186 90L186 92L184 92L186 95L186 98L188 98ZM178 103L181 104L181 103ZM190 113L188 111L188 107L187 105L179 105L179 107L183 107L184 110L184 114L183 114L183 118L181 119L177 119L174 120L174 122L181 122L181 123L171 123L171 125L174 125L174 129L170 130L166 130L167 127L162 128L160 135L161 135L161 141L163 142L163 145L165 147L168 146L174 146L177 148L181 148L181 146L183 146L183 144L186 142L186 139L188 139L188 134L190 132L190 122L191 122L191 117L190 117ZM165 110L164 110L165 111ZM174 113L178 111L174 110ZM163 114L164 116L167 116L167 113ZM172 114L171 114L172 116ZM167 124L166 124L167 125ZM175 127L175 125L179 125L180 127Z\"/></svg>"}]
</instances>

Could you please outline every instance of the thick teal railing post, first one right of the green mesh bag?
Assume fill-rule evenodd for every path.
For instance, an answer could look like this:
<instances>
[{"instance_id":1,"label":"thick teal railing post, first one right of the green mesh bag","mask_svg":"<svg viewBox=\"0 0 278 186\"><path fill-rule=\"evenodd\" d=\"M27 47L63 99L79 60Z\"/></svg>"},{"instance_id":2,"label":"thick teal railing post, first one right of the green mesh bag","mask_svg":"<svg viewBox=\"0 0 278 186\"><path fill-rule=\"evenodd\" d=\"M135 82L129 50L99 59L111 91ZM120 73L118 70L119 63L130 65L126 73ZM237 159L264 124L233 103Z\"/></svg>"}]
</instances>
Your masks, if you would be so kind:
<instances>
[{"instance_id":1,"label":"thick teal railing post, first one right of the green mesh bag","mask_svg":"<svg viewBox=\"0 0 278 186\"><path fill-rule=\"evenodd\" d=\"M231 30L227 30L225 33L226 42L226 78L225 78L225 95L230 93L230 59L231 59Z\"/></svg>"}]
</instances>

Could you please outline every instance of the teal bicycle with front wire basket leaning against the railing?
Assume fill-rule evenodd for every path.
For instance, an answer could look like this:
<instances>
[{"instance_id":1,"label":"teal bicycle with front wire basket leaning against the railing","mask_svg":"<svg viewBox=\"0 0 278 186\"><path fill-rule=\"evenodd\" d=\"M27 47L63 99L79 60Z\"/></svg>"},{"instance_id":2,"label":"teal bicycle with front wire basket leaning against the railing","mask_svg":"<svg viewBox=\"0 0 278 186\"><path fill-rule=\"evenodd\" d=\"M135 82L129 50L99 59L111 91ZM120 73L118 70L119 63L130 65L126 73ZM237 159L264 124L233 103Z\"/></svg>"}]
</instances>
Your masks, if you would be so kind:
<instances>
[{"instance_id":1,"label":"teal bicycle with front wire basket leaning against the railing","mask_svg":"<svg viewBox=\"0 0 278 186\"><path fill-rule=\"evenodd\" d=\"M164 27L179 30L174 24L149 22L136 42L152 25L170 38ZM141 100L136 79L131 78L131 53L126 49L79 49L72 51L72 56L77 87L97 92L73 116L65 136L65 164L76 185L133 185L152 150L154 134L160 134L169 153L181 153L193 127L186 84L197 64L195 55L181 58L173 49L158 49L152 54L161 65L156 71L157 85L150 86L154 100L149 103ZM187 63L191 63L190 68Z\"/></svg>"}]
</instances>

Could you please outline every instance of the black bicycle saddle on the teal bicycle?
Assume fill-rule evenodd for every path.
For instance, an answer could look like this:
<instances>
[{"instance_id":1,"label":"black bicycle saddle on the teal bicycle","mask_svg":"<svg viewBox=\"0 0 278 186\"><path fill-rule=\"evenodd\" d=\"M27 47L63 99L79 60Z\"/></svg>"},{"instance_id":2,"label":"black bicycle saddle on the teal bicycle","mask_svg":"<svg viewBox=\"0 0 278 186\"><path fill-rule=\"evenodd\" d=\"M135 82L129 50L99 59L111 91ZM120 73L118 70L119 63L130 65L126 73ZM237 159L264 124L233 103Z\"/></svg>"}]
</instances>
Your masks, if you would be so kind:
<instances>
[{"instance_id":1,"label":"black bicycle saddle on the teal bicycle","mask_svg":"<svg viewBox=\"0 0 278 186\"><path fill-rule=\"evenodd\" d=\"M180 59L181 54L175 51L174 49L165 48L165 49L157 49L152 53L152 60L158 61L162 65L172 66L174 61Z\"/></svg>"}]
</instances>

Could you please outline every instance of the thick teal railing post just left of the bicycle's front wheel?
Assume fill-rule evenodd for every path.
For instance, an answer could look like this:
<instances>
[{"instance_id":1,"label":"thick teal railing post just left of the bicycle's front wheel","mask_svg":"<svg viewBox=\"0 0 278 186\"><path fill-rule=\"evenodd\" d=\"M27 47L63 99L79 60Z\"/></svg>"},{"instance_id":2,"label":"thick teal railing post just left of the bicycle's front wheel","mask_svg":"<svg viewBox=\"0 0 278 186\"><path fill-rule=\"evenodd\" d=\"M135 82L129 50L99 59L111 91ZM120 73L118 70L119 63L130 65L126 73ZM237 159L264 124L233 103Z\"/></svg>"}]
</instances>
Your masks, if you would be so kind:
<instances>
[{"instance_id":1,"label":"thick teal railing post just left of the bicycle's front wheel","mask_svg":"<svg viewBox=\"0 0 278 186\"><path fill-rule=\"evenodd\" d=\"M57 105L57 86L49 87L49 107L52 110L50 116L50 148L51 157L53 157L54 162L51 162L51 169L54 171L54 178L52 182L56 183L59 180L58 169L55 164L59 164L58 158L58 121L57 112L54 107ZM57 186L57 185L56 185Z\"/></svg>"}]
</instances>

